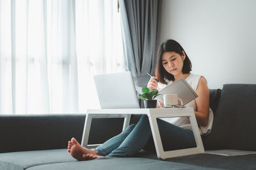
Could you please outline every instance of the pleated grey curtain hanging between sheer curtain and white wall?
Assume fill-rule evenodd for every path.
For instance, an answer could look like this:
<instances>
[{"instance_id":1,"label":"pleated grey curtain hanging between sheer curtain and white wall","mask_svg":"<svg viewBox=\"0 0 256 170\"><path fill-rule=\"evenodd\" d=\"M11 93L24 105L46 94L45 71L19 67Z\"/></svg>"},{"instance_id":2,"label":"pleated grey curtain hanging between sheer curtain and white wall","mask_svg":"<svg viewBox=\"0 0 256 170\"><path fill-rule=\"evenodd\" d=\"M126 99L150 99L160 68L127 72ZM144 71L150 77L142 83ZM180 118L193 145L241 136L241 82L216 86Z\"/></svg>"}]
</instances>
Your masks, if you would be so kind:
<instances>
[{"instance_id":1,"label":"pleated grey curtain hanging between sheer curtain and white wall","mask_svg":"<svg viewBox=\"0 0 256 170\"><path fill-rule=\"evenodd\" d=\"M154 75L161 0L119 0L125 70Z\"/></svg>"}]
</instances>

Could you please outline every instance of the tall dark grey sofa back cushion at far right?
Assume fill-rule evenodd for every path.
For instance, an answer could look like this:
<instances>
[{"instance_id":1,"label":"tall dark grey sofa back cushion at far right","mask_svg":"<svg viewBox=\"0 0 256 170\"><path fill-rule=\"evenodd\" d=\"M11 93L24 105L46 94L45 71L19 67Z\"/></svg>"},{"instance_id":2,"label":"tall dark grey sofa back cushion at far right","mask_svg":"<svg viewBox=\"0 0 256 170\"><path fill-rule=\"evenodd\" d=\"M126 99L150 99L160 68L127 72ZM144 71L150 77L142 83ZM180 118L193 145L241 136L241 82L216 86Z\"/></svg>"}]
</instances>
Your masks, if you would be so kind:
<instances>
[{"instance_id":1,"label":"tall dark grey sofa back cushion at far right","mask_svg":"<svg viewBox=\"0 0 256 170\"><path fill-rule=\"evenodd\" d=\"M256 150L256 84L225 84L205 150Z\"/></svg>"}]
</instances>

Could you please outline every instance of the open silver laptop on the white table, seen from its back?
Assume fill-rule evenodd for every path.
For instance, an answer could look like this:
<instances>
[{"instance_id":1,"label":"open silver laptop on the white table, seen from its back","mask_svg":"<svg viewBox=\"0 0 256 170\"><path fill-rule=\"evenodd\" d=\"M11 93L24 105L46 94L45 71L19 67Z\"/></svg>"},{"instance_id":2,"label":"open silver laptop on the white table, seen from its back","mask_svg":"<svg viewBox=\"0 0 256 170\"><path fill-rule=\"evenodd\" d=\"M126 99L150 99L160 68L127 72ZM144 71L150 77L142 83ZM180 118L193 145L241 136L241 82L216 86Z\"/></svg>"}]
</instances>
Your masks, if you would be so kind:
<instances>
[{"instance_id":1,"label":"open silver laptop on the white table, seen from its back","mask_svg":"<svg viewBox=\"0 0 256 170\"><path fill-rule=\"evenodd\" d=\"M138 109L140 104L131 72L93 76L101 109Z\"/></svg>"}]
</instances>

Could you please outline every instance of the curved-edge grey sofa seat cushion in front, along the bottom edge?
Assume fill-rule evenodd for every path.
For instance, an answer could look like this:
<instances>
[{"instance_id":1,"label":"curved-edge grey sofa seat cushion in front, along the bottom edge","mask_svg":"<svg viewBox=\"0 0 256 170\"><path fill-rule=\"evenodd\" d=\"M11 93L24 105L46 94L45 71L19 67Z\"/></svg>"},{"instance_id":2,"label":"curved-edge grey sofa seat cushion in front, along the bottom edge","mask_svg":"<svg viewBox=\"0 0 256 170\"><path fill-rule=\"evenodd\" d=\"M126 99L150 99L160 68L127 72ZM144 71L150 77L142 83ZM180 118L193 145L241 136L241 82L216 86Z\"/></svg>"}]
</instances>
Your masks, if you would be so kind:
<instances>
[{"instance_id":1,"label":"curved-edge grey sofa seat cushion in front, along the bottom edge","mask_svg":"<svg viewBox=\"0 0 256 170\"><path fill-rule=\"evenodd\" d=\"M177 162L168 162L163 160L152 160L149 158L97 158L89 161L65 162L58 164L45 164L34 166L28 170L70 170L70 169L212 169L207 167L193 166L189 164L180 164Z\"/></svg>"}]
</instances>

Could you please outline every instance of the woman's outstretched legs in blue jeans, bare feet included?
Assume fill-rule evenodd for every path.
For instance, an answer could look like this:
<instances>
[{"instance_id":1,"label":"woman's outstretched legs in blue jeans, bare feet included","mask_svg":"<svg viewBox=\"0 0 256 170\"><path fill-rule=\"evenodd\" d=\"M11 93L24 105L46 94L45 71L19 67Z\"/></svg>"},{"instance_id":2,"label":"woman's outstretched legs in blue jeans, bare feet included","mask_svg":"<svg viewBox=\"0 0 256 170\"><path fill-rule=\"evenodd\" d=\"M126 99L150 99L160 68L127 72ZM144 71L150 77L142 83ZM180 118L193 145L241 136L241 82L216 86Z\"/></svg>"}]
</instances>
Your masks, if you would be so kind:
<instances>
[{"instance_id":1,"label":"woman's outstretched legs in blue jeans, bare feet included","mask_svg":"<svg viewBox=\"0 0 256 170\"><path fill-rule=\"evenodd\" d=\"M191 130L177 127L161 119L157 119L157 124L164 150L196 146ZM143 115L136 125L130 125L121 134L92 150L82 147L76 139L72 138L68 141L68 152L77 160L90 160L105 156L131 157L146 146L150 137L152 137L152 132L148 116Z\"/></svg>"}]
</instances>

